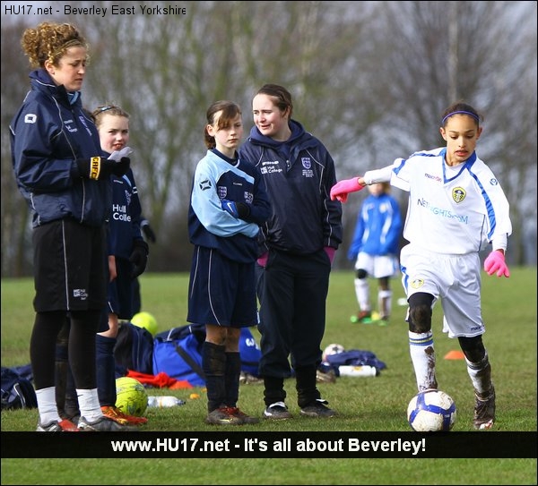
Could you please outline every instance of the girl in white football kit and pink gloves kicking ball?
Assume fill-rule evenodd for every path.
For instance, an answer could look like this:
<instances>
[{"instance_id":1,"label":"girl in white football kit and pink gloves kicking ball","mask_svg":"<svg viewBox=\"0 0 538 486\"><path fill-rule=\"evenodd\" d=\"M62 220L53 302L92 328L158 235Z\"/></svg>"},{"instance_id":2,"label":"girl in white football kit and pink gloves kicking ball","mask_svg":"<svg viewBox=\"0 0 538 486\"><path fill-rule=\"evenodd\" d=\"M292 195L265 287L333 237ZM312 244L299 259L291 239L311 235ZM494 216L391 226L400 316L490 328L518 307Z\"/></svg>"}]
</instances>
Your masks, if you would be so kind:
<instances>
[{"instance_id":1,"label":"girl in white football kit and pink gloves kicking ball","mask_svg":"<svg viewBox=\"0 0 538 486\"><path fill-rule=\"evenodd\" d=\"M495 421L495 388L482 343L479 252L491 243L484 270L509 277L504 254L512 225L499 181L474 151L482 134L480 120L467 104L448 107L440 126L447 147L396 158L392 166L340 181L331 198L345 202L349 192L380 182L409 192L404 238L410 243L400 262L417 386L419 391L438 388L431 310L440 299L443 332L457 337L473 382L474 428L485 430Z\"/></svg>"}]
</instances>

